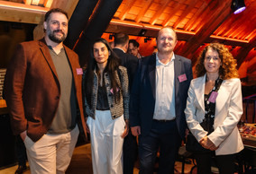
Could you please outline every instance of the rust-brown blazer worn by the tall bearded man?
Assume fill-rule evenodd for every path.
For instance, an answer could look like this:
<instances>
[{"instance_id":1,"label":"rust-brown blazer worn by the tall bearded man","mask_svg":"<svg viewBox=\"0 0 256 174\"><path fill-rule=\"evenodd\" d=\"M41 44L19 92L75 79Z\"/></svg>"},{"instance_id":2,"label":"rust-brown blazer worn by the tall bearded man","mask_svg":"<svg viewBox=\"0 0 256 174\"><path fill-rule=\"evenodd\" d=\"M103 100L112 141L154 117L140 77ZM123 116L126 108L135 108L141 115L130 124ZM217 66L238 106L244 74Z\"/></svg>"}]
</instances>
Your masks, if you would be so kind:
<instances>
[{"instance_id":1,"label":"rust-brown blazer worn by the tall bearded man","mask_svg":"<svg viewBox=\"0 0 256 174\"><path fill-rule=\"evenodd\" d=\"M86 130L82 104L82 74L78 55L65 47L76 87L81 123ZM45 39L23 42L14 52L5 75L5 100L14 135L27 130L32 141L38 141L50 128L56 115L60 86Z\"/></svg>"}]
</instances>

